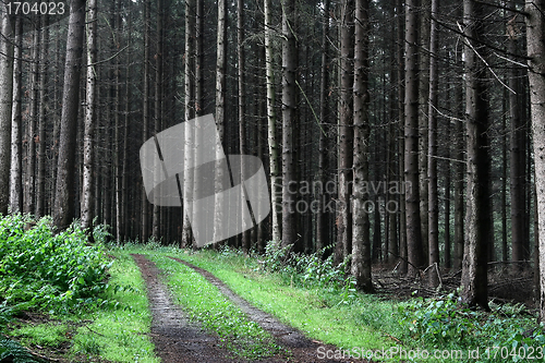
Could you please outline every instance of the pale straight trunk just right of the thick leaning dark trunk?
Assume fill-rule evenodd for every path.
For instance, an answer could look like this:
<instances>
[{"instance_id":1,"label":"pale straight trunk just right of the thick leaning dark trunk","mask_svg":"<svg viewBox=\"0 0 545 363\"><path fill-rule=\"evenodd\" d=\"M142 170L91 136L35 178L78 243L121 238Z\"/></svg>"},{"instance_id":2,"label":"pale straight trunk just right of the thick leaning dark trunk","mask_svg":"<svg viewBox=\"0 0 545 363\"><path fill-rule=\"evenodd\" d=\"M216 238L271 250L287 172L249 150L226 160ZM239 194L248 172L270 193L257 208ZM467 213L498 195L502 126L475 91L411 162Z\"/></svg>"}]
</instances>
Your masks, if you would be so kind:
<instances>
[{"instance_id":1,"label":"pale straight trunk just right of the thick leaning dark trunk","mask_svg":"<svg viewBox=\"0 0 545 363\"><path fill-rule=\"evenodd\" d=\"M96 121L97 92L97 0L89 0L87 14L87 85L85 106L85 130L83 136L83 195L82 195L82 228L93 227L93 210L95 202L94 180L94 137Z\"/></svg>"}]
</instances>

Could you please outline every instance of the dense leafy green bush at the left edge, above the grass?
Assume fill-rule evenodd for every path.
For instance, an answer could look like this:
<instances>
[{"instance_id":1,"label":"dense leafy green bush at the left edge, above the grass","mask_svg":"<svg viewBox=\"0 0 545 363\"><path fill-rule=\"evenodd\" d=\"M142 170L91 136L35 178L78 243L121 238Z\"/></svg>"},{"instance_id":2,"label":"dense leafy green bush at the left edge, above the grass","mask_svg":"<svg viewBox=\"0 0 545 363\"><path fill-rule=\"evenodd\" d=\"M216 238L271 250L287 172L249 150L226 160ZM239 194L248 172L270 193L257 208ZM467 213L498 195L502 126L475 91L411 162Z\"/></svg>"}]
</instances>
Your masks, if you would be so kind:
<instances>
[{"instance_id":1,"label":"dense leafy green bush at the left edge, above the grass","mask_svg":"<svg viewBox=\"0 0 545 363\"><path fill-rule=\"evenodd\" d=\"M29 228L32 227L32 228ZM0 300L9 305L66 311L100 302L110 263L100 244L86 245L78 225L55 234L51 218L27 215L0 219Z\"/></svg>"}]
</instances>

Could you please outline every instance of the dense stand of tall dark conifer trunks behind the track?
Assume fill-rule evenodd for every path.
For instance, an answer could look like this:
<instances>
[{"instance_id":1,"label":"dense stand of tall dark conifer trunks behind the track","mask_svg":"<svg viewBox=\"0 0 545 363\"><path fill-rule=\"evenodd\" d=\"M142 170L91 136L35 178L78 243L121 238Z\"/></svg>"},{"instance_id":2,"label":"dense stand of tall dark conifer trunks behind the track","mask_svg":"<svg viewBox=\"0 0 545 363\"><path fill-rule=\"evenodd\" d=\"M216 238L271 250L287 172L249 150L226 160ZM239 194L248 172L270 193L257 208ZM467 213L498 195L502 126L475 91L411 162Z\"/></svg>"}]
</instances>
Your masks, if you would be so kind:
<instances>
[{"instance_id":1,"label":"dense stand of tall dark conifer trunks behind the track","mask_svg":"<svg viewBox=\"0 0 545 363\"><path fill-rule=\"evenodd\" d=\"M451 308L468 312L521 303L535 329L544 11L543 0L7 1L0 242L41 228L51 241L75 233L98 255L150 243L252 256L292 271L291 285L335 271L354 293L451 293ZM185 133L168 149L172 130ZM147 157L162 169L149 172ZM259 203L246 162L266 183ZM173 202L148 189L162 173L175 174L164 185ZM226 183L240 184L238 210L218 211ZM207 192L211 219L197 210ZM252 227L218 234L249 208ZM4 279L21 256L2 249ZM0 289L4 306L12 288Z\"/></svg>"}]
</instances>

